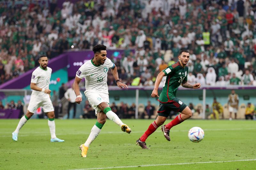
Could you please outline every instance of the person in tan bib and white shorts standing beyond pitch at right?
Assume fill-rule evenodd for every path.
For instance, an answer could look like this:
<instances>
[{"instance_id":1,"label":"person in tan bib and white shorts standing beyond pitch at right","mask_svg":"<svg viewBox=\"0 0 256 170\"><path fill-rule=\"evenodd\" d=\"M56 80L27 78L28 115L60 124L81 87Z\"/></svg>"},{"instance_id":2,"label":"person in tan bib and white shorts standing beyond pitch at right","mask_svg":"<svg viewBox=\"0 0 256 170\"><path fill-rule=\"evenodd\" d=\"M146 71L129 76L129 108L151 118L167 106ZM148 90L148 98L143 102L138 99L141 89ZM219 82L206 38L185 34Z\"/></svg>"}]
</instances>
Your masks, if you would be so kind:
<instances>
[{"instance_id":1,"label":"person in tan bib and white shorts standing beyond pitch at right","mask_svg":"<svg viewBox=\"0 0 256 170\"><path fill-rule=\"evenodd\" d=\"M230 121L232 120L232 112L235 113L235 119L236 119L238 104L239 104L238 94L236 94L235 90L231 90L231 94L228 95L228 110L229 110Z\"/></svg>"}]
</instances>

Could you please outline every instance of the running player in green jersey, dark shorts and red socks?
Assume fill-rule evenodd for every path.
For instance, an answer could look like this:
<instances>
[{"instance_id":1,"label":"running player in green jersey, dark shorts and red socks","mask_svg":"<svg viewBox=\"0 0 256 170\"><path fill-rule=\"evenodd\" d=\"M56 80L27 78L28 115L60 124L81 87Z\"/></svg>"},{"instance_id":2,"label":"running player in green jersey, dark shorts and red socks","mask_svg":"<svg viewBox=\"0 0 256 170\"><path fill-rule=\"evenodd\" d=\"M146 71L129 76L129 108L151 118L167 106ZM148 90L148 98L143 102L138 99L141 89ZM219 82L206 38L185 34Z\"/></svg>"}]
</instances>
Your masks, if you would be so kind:
<instances>
[{"instance_id":1,"label":"running player in green jersey, dark shorts and red socks","mask_svg":"<svg viewBox=\"0 0 256 170\"><path fill-rule=\"evenodd\" d=\"M167 67L161 71L156 78L155 88L151 94L151 97L158 96L158 86L164 76L166 79L164 81L163 91L160 94L158 101L159 109L157 111L158 116L154 122L152 122L148 130L136 141L142 149L149 149L145 143L149 135L151 135L156 129L164 124L167 117L170 115L170 111L180 112L181 114L175 117L172 122L161 126L161 130L164 133L164 137L170 141L170 129L177 124L185 121L192 116L192 112L189 107L183 103L180 99L176 98L176 92L180 85L186 88L198 89L200 88L200 83L195 85L190 85L187 82L188 67L186 64L189 60L189 53L187 50L181 50L179 53L179 61Z\"/></svg>"}]
</instances>

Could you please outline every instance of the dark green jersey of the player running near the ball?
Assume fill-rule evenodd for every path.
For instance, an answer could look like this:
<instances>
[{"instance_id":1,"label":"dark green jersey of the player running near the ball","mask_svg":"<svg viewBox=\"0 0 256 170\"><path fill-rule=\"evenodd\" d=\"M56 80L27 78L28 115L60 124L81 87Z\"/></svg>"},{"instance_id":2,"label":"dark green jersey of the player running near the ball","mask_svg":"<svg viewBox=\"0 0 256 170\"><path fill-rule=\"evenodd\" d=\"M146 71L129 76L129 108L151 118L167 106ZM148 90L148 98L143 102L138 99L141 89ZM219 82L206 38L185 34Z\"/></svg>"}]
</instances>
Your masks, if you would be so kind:
<instances>
[{"instance_id":1,"label":"dark green jersey of the player running near the ball","mask_svg":"<svg viewBox=\"0 0 256 170\"><path fill-rule=\"evenodd\" d=\"M188 67L185 66L183 68L178 61L163 71L166 75L166 79L164 81L163 91L161 92L158 101L167 103L176 97L177 89L181 83L188 80Z\"/></svg>"}]
</instances>

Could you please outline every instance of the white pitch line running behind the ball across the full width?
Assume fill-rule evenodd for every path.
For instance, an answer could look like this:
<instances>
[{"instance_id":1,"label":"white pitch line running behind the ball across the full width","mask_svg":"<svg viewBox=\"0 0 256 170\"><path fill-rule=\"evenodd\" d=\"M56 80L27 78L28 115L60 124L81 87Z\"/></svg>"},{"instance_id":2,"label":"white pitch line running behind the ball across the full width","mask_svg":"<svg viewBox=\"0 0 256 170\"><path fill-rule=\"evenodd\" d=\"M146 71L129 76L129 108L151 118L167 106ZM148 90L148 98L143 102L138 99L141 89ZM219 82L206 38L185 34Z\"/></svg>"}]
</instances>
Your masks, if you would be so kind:
<instances>
[{"instance_id":1,"label":"white pitch line running behind the ball across the full width","mask_svg":"<svg viewBox=\"0 0 256 170\"><path fill-rule=\"evenodd\" d=\"M233 129L204 129L204 131L226 131L226 130L256 130L256 128L233 128ZM171 132L187 132L188 130L171 130ZM144 133L145 131L132 131L132 133ZM157 130L155 132L161 132L160 130ZM5 132L4 132L5 133ZM11 132L8 132L12 134ZM40 132L22 132L23 134L29 134L29 135L19 135L19 136L47 136L50 133L40 133ZM116 134L116 133L124 133L124 132L100 132L100 134ZM89 135L89 132L78 132L78 133L59 133L57 135ZM10 137L10 135L3 135L0 137Z\"/></svg>"}]
</instances>

